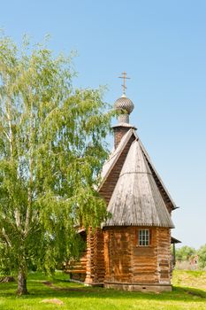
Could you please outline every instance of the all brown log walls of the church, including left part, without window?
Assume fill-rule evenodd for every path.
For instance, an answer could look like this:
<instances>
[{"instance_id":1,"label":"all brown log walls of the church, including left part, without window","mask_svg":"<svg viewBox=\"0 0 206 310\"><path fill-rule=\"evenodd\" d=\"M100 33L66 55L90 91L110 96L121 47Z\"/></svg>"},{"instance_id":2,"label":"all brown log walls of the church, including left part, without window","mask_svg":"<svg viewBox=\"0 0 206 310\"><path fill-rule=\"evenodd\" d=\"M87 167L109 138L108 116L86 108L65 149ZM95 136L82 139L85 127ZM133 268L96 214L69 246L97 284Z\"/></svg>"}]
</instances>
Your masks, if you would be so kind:
<instances>
[{"instance_id":1,"label":"all brown log walls of the church, including left part, without window","mask_svg":"<svg viewBox=\"0 0 206 310\"><path fill-rule=\"evenodd\" d=\"M138 230L149 229L149 246L138 245ZM107 227L88 230L87 254L72 279L128 291L171 291L170 229Z\"/></svg>"}]
</instances>

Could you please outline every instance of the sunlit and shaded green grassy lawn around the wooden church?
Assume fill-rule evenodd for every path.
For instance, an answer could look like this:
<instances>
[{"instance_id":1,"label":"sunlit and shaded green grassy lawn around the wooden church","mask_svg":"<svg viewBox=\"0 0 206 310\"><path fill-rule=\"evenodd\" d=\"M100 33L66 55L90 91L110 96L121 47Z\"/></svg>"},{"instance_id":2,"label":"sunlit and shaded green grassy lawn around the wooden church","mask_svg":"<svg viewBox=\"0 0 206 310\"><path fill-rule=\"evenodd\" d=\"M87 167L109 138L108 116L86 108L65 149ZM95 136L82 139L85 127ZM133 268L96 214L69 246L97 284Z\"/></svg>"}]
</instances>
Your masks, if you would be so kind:
<instances>
[{"instance_id":1,"label":"sunlit and shaded green grassy lawn around the wooden church","mask_svg":"<svg viewBox=\"0 0 206 310\"><path fill-rule=\"evenodd\" d=\"M26 297L16 297L17 283L0 283L0 310L181 310L206 309L206 272L175 271L173 291L161 294L90 288L69 283L66 275L57 273L54 279L41 274L28 278ZM43 283L48 281L48 286ZM194 288L192 288L194 287ZM57 298L63 305L43 303L44 299Z\"/></svg>"}]
</instances>

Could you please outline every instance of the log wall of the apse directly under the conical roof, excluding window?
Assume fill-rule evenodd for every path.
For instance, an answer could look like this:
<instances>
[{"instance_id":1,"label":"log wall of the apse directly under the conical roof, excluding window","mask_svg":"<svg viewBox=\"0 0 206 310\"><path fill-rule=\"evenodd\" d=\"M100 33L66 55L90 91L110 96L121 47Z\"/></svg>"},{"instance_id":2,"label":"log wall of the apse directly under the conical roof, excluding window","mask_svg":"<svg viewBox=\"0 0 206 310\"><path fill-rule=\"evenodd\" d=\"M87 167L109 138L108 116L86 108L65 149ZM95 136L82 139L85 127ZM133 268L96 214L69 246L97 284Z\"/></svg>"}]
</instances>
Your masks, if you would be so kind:
<instances>
[{"instance_id":1,"label":"log wall of the apse directly under the conical roof, excluding window","mask_svg":"<svg viewBox=\"0 0 206 310\"><path fill-rule=\"evenodd\" d=\"M149 246L138 245L138 229L149 229ZM170 229L105 228L105 286L131 291L170 291L170 246Z\"/></svg>"}]
</instances>

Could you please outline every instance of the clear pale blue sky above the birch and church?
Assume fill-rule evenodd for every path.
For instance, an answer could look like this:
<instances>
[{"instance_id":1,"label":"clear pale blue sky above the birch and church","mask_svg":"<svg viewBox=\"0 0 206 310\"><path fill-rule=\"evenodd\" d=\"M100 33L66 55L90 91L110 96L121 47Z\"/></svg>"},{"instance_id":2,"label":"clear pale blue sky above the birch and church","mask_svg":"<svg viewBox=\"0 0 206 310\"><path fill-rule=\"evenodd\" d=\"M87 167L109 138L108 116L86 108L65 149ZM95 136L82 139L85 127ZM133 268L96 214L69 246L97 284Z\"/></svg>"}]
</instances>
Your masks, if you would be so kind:
<instances>
[{"instance_id":1,"label":"clear pale blue sky above the birch and church","mask_svg":"<svg viewBox=\"0 0 206 310\"><path fill-rule=\"evenodd\" d=\"M56 54L77 50L74 86L107 85L111 104L127 72L131 123L180 206L172 235L196 248L206 243L205 16L205 0L7 0L0 11L15 42L50 34Z\"/></svg>"}]
</instances>

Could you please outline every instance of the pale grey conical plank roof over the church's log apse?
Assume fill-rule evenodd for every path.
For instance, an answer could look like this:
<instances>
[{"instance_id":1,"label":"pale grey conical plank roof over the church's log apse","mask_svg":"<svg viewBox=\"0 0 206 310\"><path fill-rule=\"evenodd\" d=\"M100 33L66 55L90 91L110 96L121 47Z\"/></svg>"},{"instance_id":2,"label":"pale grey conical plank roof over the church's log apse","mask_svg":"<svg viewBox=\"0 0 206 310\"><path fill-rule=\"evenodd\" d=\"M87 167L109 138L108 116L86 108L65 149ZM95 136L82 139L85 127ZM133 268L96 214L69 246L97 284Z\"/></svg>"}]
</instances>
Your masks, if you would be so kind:
<instances>
[{"instance_id":1,"label":"pale grey conical plank roof over the church's log apse","mask_svg":"<svg viewBox=\"0 0 206 310\"><path fill-rule=\"evenodd\" d=\"M110 171L110 168L108 167ZM148 161L135 139L127 153L108 205L111 219L103 226L158 226L174 228Z\"/></svg>"}]
</instances>

